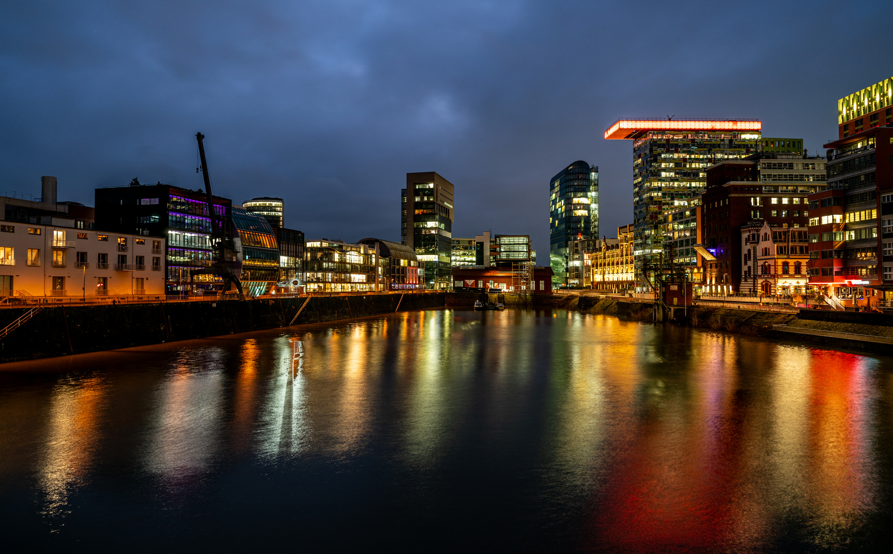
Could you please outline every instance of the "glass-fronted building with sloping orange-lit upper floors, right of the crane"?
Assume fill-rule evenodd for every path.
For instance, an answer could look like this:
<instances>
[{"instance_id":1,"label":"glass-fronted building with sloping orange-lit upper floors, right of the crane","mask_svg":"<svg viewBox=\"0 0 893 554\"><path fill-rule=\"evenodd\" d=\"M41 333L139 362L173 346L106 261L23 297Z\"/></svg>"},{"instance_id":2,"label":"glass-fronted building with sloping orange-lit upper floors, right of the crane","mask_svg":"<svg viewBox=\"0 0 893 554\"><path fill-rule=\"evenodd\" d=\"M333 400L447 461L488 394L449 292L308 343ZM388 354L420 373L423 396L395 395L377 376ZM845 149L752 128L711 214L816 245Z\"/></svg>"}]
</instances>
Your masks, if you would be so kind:
<instances>
[{"instance_id":1,"label":"glass-fronted building with sloping orange-lit upper floors, right of the crane","mask_svg":"<svg viewBox=\"0 0 893 554\"><path fill-rule=\"evenodd\" d=\"M232 206L232 221L238 230L236 252L241 267L234 268L242 290L251 296L270 294L280 275L280 250L270 222L258 213Z\"/></svg>"}]
</instances>

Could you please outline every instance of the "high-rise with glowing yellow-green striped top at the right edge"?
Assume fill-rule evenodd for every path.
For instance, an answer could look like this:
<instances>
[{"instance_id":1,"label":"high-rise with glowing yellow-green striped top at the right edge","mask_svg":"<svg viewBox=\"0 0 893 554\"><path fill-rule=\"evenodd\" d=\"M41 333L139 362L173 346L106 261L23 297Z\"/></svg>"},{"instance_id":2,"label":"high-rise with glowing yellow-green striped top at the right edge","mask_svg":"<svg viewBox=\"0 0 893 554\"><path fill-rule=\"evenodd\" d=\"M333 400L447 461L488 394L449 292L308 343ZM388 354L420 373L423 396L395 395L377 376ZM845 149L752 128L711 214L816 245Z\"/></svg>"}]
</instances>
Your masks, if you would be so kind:
<instances>
[{"instance_id":1,"label":"high-rise with glowing yellow-green striped top at the right edge","mask_svg":"<svg viewBox=\"0 0 893 554\"><path fill-rule=\"evenodd\" d=\"M893 304L893 78L838 101L828 191L809 197L809 284L847 306Z\"/></svg>"}]
</instances>

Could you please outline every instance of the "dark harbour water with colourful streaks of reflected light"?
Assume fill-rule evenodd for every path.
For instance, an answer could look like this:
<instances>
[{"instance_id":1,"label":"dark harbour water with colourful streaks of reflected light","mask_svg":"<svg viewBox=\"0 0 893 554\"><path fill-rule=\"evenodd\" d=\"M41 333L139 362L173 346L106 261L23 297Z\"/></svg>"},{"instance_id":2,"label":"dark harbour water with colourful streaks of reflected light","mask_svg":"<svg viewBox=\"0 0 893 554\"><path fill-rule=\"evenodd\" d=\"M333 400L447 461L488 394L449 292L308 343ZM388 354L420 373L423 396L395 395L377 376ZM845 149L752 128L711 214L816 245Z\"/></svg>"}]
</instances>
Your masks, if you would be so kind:
<instances>
[{"instance_id":1,"label":"dark harbour water with colourful streaks of reflected light","mask_svg":"<svg viewBox=\"0 0 893 554\"><path fill-rule=\"evenodd\" d=\"M893 360L428 310L0 366L4 544L873 551ZM10 550L7 550L10 551Z\"/></svg>"}]
</instances>

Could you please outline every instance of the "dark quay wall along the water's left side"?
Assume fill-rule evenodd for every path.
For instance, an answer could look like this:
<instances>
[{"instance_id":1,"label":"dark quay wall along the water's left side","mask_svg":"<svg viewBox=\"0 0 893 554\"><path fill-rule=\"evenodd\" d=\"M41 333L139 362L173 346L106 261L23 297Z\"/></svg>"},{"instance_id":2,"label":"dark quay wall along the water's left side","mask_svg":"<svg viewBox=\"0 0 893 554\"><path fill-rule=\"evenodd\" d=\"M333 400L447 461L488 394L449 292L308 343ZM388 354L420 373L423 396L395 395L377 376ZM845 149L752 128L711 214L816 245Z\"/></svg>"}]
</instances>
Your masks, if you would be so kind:
<instances>
[{"instance_id":1,"label":"dark quay wall along the water's left side","mask_svg":"<svg viewBox=\"0 0 893 554\"><path fill-rule=\"evenodd\" d=\"M305 302L294 325L438 308L444 299L444 293L362 294L46 307L0 339L0 362L286 327ZM27 310L0 311L0 328Z\"/></svg>"}]
</instances>

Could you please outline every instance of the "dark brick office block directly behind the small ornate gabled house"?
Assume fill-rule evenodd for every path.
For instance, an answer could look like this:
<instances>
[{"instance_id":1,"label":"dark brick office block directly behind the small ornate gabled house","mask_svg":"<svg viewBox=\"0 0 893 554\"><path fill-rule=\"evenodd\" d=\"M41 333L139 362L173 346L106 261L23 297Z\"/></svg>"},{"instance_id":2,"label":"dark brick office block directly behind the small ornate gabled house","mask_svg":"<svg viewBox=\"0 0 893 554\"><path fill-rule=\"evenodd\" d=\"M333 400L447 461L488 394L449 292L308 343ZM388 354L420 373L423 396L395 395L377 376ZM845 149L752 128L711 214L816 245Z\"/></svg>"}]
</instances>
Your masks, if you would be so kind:
<instances>
[{"instance_id":1,"label":"dark brick office block directly behind the small ornate gabled house","mask_svg":"<svg viewBox=\"0 0 893 554\"><path fill-rule=\"evenodd\" d=\"M802 229L785 234L785 241L798 244L801 236L805 238L809 222L807 198L826 187L825 159L803 153L756 153L711 166L706 171L706 183L698 221L700 243L694 245L702 276L700 290L707 294L738 293L743 282L751 291L755 257L760 256L761 270L763 261L771 260L762 253L766 245L747 239L753 232L743 233L742 227L762 228L765 222L770 229ZM759 236L760 244L764 243L762 232ZM773 263L770 265L775 271ZM767 277L764 281L772 290L768 294L776 294L778 281L762 272L758 275Z\"/></svg>"}]
</instances>

